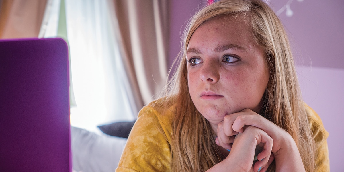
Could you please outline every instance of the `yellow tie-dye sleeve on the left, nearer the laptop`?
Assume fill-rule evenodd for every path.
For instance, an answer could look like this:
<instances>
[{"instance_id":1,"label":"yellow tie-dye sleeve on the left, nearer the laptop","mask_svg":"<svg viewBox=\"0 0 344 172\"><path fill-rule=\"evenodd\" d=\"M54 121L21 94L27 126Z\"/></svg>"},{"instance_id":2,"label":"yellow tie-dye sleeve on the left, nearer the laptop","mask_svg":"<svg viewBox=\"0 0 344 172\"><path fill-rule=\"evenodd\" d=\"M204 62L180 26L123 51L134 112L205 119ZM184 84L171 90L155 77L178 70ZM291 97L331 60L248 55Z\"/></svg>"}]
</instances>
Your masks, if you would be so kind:
<instances>
[{"instance_id":1,"label":"yellow tie-dye sleeve on the left, nearer the laptop","mask_svg":"<svg viewBox=\"0 0 344 172\"><path fill-rule=\"evenodd\" d=\"M140 110L116 172L170 171L170 144L157 111Z\"/></svg>"}]
</instances>

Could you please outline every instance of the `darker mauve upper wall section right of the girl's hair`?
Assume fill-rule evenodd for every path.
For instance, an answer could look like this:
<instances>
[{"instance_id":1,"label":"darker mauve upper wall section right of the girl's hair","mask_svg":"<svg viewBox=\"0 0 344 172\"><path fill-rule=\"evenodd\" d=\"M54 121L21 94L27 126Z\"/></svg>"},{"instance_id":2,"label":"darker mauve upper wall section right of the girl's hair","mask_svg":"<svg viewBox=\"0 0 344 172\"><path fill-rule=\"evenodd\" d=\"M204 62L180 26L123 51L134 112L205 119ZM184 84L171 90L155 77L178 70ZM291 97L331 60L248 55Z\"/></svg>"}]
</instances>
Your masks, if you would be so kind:
<instances>
[{"instance_id":1,"label":"darker mauve upper wall section right of the girl's hair","mask_svg":"<svg viewBox=\"0 0 344 172\"><path fill-rule=\"evenodd\" d=\"M270 0L278 11L287 0ZM292 17L279 17L290 34L296 64L344 68L344 1L304 0L290 4ZM302 62L303 61L303 62Z\"/></svg>"}]
</instances>

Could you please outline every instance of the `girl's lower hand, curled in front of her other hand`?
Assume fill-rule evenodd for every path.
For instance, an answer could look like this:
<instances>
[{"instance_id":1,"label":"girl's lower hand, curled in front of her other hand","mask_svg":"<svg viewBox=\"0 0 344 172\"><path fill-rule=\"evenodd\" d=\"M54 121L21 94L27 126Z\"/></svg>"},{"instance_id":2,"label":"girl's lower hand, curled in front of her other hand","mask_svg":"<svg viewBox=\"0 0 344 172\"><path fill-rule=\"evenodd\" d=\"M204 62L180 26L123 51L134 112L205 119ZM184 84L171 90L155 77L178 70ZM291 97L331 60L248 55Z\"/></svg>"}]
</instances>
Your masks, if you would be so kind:
<instances>
[{"instance_id":1,"label":"girl's lower hand, curled in front of her other hand","mask_svg":"<svg viewBox=\"0 0 344 172\"><path fill-rule=\"evenodd\" d=\"M273 140L263 130L254 126L245 126L242 133L237 136L232 136L230 141L233 143L232 151L230 151L227 158L220 163L213 166L208 171L246 171L257 172L266 171L268 166L273 161L273 154L271 153ZM223 131L223 130L222 130ZM221 132L223 133L223 132ZM217 143L222 143L222 137L217 137ZM220 140L220 141L219 141ZM223 144L224 147L228 146ZM259 150L258 161L254 163L255 152ZM253 165L252 165L253 164Z\"/></svg>"}]
</instances>

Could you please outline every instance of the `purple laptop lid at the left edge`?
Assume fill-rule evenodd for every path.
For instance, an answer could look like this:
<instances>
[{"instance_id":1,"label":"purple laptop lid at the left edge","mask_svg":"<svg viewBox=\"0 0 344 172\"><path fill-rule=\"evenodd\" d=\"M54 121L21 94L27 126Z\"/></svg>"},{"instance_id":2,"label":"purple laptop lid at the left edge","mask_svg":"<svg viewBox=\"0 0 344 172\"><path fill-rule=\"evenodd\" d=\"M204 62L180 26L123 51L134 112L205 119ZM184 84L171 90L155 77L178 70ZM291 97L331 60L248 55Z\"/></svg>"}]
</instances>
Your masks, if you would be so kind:
<instances>
[{"instance_id":1,"label":"purple laptop lid at the left edge","mask_svg":"<svg viewBox=\"0 0 344 172\"><path fill-rule=\"evenodd\" d=\"M68 48L0 40L0 171L70 172Z\"/></svg>"}]
</instances>

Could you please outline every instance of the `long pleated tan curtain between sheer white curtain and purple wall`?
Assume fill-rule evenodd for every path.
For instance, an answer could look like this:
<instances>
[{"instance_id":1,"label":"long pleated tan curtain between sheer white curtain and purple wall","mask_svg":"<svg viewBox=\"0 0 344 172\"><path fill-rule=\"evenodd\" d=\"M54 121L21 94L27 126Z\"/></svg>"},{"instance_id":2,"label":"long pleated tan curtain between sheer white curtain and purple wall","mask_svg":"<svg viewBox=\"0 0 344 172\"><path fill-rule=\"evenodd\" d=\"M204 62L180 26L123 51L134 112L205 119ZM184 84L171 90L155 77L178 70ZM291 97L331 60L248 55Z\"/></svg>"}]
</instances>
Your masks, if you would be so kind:
<instances>
[{"instance_id":1,"label":"long pleated tan curtain between sheer white curtain and purple wall","mask_svg":"<svg viewBox=\"0 0 344 172\"><path fill-rule=\"evenodd\" d=\"M112 0L114 28L140 109L165 85L169 8L167 0Z\"/></svg>"}]
</instances>

